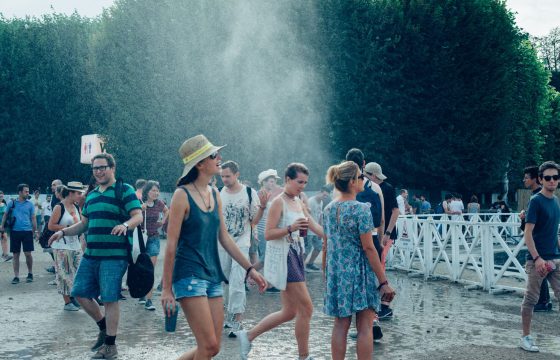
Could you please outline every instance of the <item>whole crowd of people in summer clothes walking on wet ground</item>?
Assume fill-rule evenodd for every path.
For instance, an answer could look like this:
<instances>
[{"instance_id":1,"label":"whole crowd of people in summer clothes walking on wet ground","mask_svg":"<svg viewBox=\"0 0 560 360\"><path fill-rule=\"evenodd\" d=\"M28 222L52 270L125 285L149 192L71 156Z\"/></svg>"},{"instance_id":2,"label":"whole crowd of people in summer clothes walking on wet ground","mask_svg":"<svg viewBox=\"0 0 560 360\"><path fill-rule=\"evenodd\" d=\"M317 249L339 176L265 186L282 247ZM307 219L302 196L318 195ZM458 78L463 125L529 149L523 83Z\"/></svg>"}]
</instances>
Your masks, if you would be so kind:
<instances>
[{"instance_id":1,"label":"whole crowd of people in summer clothes walking on wet ground","mask_svg":"<svg viewBox=\"0 0 560 360\"><path fill-rule=\"evenodd\" d=\"M145 231L146 252L155 266L165 229L161 306L166 316L180 306L196 340L196 347L180 359L216 356L223 329L238 339L240 357L247 359L254 339L291 320L299 359L312 359L313 304L306 272L321 270L323 312L334 319L332 358L346 357L355 317L357 333L350 337L356 339L356 356L371 359L374 341L383 336L379 320L393 317L396 292L386 276L385 260L397 239L397 219L432 212L431 204L424 195L414 195L409 204L406 189L397 196L381 165L366 162L359 149L350 149L345 161L331 166L326 185L308 198L305 188L311 174L304 164L289 164L283 177L274 169L262 171L257 190L241 181L236 161L222 162L222 148L203 135L181 145L183 173L168 205L159 198L157 181L119 185L110 154L93 157L94 181L89 186L54 180L54 196L45 202L38 192L29 199L27 184L20 184L17 199L9 202L2 201L0 192L2 257L13 261L12 284L20 281L22 249L26 281L33 281L34 240L46 237L64 310L83 309L95 321L92 359L114 359L122 279L133 243L130 230L141 226ZM529 250L520 343L527 351L538 351L530 335L532 312L551 309L545 279L560 296L560 207L554 196L559 171L557 164L546 162L525 172L525 185L534 194L527 213L520 215ZM221 188L216 186L218 176ZM503 205L497 204L506 212ZM452 216L465 212L460 195L447 195L438 207ZM466 209L480 212L475 196ZM321 253L322 269L316 264ZM251 328L243 322L250 306L248 284L256 284L260 292L279 293L281 305ZM138 301L154 311L152 300L153 290Z\"/></svg>"}]
</instances>

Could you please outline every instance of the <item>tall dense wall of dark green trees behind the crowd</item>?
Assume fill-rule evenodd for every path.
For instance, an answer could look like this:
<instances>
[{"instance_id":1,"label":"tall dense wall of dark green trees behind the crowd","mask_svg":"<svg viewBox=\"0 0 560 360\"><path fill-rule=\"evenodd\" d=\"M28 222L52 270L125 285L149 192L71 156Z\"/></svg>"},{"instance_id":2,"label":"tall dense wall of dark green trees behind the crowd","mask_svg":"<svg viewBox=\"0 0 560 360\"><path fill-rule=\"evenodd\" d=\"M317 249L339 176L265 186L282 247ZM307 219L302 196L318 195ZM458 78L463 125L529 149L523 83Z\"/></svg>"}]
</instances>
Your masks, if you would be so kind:
<instances>
[{"instance_id":1,"label":"tall dense wall of dark green trees behind the crowd","mask_svg":"<svg viewBox=\"0 0 560 360\"><path fill-rule=\"evenodd\" d=\"M395 185L488 192L557 153L558 94L499 0L117 0L96 19L0 19L0 185L87 180L100 133L127 180L171 189L206 134L242 177L351 147ZM9 154L9 155L8 155Z\"/></svg>"}]
</instances>

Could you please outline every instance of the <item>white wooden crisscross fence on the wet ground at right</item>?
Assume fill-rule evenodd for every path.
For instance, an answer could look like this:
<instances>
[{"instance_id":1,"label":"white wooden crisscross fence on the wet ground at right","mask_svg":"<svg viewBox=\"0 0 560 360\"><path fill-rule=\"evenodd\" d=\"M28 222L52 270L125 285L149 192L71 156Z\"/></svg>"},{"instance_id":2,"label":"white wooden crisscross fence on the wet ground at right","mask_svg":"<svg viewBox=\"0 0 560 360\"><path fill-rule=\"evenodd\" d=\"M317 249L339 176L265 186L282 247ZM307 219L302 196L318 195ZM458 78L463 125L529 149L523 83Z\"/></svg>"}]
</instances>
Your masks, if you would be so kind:
<instances>
[{"instance_id":1,"label":"white wooden crisscross fence on the wet ground at right","mask_svg":"<svg viewBox=\"0 0 560 360\"><path fill-rule=\"evenodd\" d=\"M519 225L519 214L400 216L387 266L489 292L522 290L527 275L518 257L526 246Z\"/></svg>"}]
</instances>

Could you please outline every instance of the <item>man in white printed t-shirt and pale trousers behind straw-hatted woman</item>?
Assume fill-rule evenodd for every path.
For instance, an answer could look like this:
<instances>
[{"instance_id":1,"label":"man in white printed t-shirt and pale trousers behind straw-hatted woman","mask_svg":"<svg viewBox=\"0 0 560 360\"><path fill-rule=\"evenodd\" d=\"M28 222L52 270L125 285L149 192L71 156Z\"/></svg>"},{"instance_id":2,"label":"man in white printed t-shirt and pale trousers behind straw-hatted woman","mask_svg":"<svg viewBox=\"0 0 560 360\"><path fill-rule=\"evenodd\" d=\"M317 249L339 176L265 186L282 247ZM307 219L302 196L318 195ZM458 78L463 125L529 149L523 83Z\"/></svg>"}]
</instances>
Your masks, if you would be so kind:
<instances>
[{"instance_id":1,"label":"man in white printed t-shirt and pale trousers behind straw-hatted woman","mask_svg":"<svg viewBox=\"0 0 560 360\"><path fill-rule=\"evenodd\" d=\"M252 226L257 225L268 202L266 192L257 192L239 182L239 165L235 161L226 161L221 166L222 182L220 190L222 214L228 233L236 242L239 250L249 260ZM241 330L241 318L245 313L247 295L245 293L246 271L220 246L220 262L228 278L228 300L225 326L231 328L229 337Z\"/></svg>"}]
</instances>

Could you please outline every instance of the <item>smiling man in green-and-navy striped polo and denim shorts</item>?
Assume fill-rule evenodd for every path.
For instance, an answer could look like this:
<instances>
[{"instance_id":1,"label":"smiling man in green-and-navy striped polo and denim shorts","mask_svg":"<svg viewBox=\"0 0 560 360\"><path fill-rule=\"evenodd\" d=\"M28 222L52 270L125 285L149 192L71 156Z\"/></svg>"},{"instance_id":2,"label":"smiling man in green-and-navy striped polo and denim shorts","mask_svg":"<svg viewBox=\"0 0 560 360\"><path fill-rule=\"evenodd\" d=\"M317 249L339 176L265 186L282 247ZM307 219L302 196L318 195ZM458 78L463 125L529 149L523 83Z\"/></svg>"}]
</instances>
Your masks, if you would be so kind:
<instances>
[{"instance_id":1,"label":"smiling man in green-and-navy striped polo and denim shorts","mask_svg":"<svg viewBox=\"0 0 560 360\"><path fill-rule=\"evenodd\" d=\"M72 296L99 327L97 342L92 347L97 353L92 359L117 357L118 299L128 265L128 246L132 243L127 231L143 221L140 201L132 186L123 184L122 198L117 199L115 165L110 154L93 157L93 176L98 186L87 195L82 220L53 235L58 240L65 235L88 232L87 248L74 279ZM93 300L98 296L105 304L105 316Z\"/></svg>"}]
</instances>

